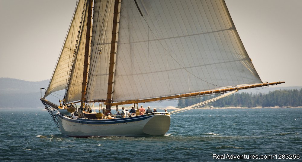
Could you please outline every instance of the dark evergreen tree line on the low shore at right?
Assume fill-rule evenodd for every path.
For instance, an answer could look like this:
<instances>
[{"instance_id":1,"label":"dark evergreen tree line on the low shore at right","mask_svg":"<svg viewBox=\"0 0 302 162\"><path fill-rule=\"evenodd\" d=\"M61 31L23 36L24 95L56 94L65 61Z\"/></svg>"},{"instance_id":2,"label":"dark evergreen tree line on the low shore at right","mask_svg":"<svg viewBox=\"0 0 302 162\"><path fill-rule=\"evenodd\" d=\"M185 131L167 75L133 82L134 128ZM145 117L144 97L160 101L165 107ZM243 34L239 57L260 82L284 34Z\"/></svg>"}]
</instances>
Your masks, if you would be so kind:
<instances>
[{"instance_id":1,"label":"dark evergreen tree line on the low shore at right","mask_svg":"<svg viewBox=\"0 0 302 162\"><path fill-rule=\"evenodd\" d=\"M216 95L179 99L178 107L183 108L196 103L209 100ZM213 107L298 107L302 106L302 89L275 90L267 94L264 93L235 93L225 98L211 102L206 106Z\"/></svg>"}]
</instances>

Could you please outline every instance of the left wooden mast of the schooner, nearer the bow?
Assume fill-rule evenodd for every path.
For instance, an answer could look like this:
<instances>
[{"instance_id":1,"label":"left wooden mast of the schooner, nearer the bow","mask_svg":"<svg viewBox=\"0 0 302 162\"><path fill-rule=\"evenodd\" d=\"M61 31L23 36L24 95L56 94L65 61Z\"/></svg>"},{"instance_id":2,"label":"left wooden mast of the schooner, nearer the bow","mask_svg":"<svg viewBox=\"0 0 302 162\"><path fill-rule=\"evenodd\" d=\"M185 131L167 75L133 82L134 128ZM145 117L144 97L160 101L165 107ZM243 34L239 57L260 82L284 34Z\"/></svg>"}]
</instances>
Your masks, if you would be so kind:
<instances>
[{"instance_id":1,"label":"left wooden mast of the schooner, nearer the bow","mask_svg":"<svg viewBox=\"0 0 302 162\"><path fill-rule=\"evenodd\" d=\"M88 75L88 55L90 47L90 29L92 21L92 0L88 0L88 14L87 14L87 29L86 29L86 42L85 42L85 55L84 55L84 70L83 70L83 80L82 80L82 97L81 97L81 107L84 107L86 89L87 89L87 75Z\"/></svg>"}]
</instances>

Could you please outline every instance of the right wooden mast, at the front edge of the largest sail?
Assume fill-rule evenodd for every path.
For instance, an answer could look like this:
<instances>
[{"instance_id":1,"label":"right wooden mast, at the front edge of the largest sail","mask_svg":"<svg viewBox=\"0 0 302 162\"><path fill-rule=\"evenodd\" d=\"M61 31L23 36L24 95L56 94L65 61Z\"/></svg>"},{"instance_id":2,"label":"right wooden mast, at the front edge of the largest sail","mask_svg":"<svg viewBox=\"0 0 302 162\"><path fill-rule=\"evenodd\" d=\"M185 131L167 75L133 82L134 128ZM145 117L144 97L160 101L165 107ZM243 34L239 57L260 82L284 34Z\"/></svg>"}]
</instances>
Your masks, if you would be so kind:
<instances>
[{"instance_id":1,"label":"right wooden mast, at the front edge of the largest sail","mask_svg":"<svg viewBox=\"0 0 302 162\"><path fill-rule=\"evenodd\" d=\"M116 44L116 34L117 34L116 29L117 29L118 5L119 5L119 0L115 0L114 1L114 11L113 11L113 26L112 26L112 38L111 38L110 62L109 62L107 103L111 103L111 96L112 96L114 54L115 54L115 44ZM107 105L106 109L110 110L111 105Z\"/></svg>"}]
</instances>

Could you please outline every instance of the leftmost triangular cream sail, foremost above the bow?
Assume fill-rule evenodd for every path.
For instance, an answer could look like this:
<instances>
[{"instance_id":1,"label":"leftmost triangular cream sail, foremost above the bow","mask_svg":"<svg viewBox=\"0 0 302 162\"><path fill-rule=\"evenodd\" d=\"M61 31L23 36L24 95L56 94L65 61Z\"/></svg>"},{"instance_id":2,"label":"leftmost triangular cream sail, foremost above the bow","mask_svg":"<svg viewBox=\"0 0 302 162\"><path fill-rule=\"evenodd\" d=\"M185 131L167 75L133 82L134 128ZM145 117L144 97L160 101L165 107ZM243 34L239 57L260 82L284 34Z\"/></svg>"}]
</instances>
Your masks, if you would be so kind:
<instances>
[{"instance_id":1,"label":"leftmost triangular cream sail, foremost above the bow","mask_svg":"<svg viewBox=\"0 0 302 162\"><path fill-rule=\"evenodd\" d=\"M47 87L44 98L50 93L63 90L66 88L67 81L69 79L69 72L72 66L72 58L76 49L76 40L81 24L81 17L84 8L85 0L79 0L74 17L69 27L69 32L66 36L62 52L56 64L56 68L53 72L53 76Z\"/></svg>"}]
</instances>

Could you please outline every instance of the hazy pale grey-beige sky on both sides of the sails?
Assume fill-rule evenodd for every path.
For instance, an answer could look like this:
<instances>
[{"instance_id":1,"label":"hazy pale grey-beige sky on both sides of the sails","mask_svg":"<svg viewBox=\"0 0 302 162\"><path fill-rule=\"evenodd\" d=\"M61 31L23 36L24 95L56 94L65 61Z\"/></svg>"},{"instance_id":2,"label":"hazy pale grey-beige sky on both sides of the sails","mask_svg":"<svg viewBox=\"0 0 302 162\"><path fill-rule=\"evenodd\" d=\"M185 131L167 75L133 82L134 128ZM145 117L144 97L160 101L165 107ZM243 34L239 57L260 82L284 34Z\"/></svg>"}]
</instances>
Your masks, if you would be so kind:
<instances>
[{"instance_id":1,"label":"hazy pale grey-beige sky on both sides of the sails","mask_svg":"<svg viewBox=\"0 0 302 162\"><path fill-rule=\"evenodd\" d=\"M302 86L302 0L226 0L262 81ZM0 77L50 79L76 0L0 0Z\"/></svg>"}]
</instances>

